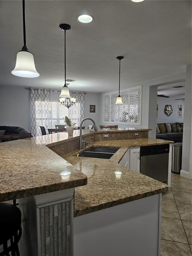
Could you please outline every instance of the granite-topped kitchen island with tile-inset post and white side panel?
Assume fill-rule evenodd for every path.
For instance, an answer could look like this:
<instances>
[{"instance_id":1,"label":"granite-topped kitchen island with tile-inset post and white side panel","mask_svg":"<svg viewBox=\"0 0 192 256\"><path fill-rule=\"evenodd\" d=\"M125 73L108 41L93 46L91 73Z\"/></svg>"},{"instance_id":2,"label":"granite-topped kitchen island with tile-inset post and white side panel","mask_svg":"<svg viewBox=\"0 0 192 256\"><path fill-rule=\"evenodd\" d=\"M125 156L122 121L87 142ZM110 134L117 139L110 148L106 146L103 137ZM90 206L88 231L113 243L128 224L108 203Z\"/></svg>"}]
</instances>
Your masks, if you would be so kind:
<instances>
[{"instance_id":1,"label":"granite-topped kitchen island with tile-inset post and white side panel","mask_svg":"<svg viewBox=\"0 0 192 256\"><path fill-rule=\"evenodd\" d=\"M144 129L144 132L146 131L149 131L149 129ZM86 134L86 131L84 132ZM88 134L84 135L87 141L93 140L91 134L101 134L101 131L94 132L89 130L87 132ZM122 132L125 133L125 131ZM23 227L25 229L24 232L29 255L48 255L49 253L50 255L57 255L57 251L61 252L62 250L65 252L64 255L73 255L73 225L74 255L98 255L95 247L101 247L104 256L123 255L122 253L124 252L120 248L124 248L124 251L127 250L128 243L124 244L125 240L122 239L118 239L117 242L119 245L115 245L115 247L119 248L119 254L106 254L105 250L108 253L110 253L110 250L108 250L109 245L106 243L107 241L101 239L102 232L105 234L105 237L107 232L108 234L113 233L114 236L117 234L118 237L120 237L120 234L124 237L127 236L128 240L131 239L131 236L135 237L141 234L141 239L143 232L146 232L146 227L148 227L150 237L148 244L143 245L140 249L144 249L144 247L147 249L152 239L155 242L151 246L150 253L154 253L155 250L156 254L148 254L148 256L159 255L161 193L167 191L168 187L152 178L122 167L118 162L124 155L126 147L128 148L130 145L136 146L141 145L141 143L143 145L153 145L154 143L163 144L171 142L147 137L140 138L138 141L132 140L132 142L131 139L124 140L124 142L120 140L113 142L93 141L95 145L102 145L103 143L103 145L110 146L110 143L119 143L120 149L111 159L101 160L95 158L79 159L73 156L78 151L78 138L78 131L74 131L73 137L71 136L69 138L68 134L59 133L34 137L31 140L1 143L0 145L4 152L1 157L0 169L1 184L3 185L0 189L0 201L21 198L19 201L25 219L23 221ZM123 143L131 144L124 146ZM116 144L116 146L118 145ZM71 171L70 179L66 182L62 182L61 176L59 175L64 170ZM117 180L114 174L114 171L118 170L122 171L122 178L120 180ZM3 177L2 173L6 173L6 175ZM87 177L88 184L85 185L87 183ZM69 211L73 212L74 188L75 218L73 223L73 214L69 215L68 213ZM65 209L68 210L65 211ZM61 213L68 214L66 223L70 221L70 224L64 224L63 230L61 230L61 222L64 218L59 218ZM135 221L133 221L133 216L135 216ZM78 218L81 219L78 220ZM35 219L37 219L37 222L35 222ZM116 224L114 219L117 221ZM96 221L96 227L94 226L94 220ZM54 221L60 221L61 226L58 225L58 230L60 230L59 232L62 235L58 239L54 237L54 241L52 241L55 234L52 225L55 223ZM45 230L42 223L45 224ZM85 223L87 224L85 225ZM102 232L100 232L101 227L97 228L98 223L103 227ZM112 223L114 224L113 228L111 226ZM142 223L145 223L144 227ZM110 229L107 230L106 226L110 227ZM82 227L86 230L82 230ZM125 232L125 227L128 232ZM144 229L141 232L142 228ZM116 233L114 230L116 230ZM132 233L133 230L135 230L134 234ZM96 231L100 233L100 239L98 241L95 240L95 236L98 235ZM35 237L35 232L37 232L38 239L35 239L32 245L30 245L32 241L30 239L31 237ZM82 232L84 235L86 234L84 240L79 239L83 237L81 236ZM70 236L69 233L71 233ZM156 234L155 237L154 233ZM66 234L66 237L68 237L68 244L67 242L64 243L66 237L64 238L63 234ZM87 237L89 240L87 240ZM91 244L90 239L93 244ZM145 243L144 240L141 241L142 244ZM86 252L85 250L85 247L89 247L86 246L86 241L90 243L90 246L93 246L92 254L88 254L90 252ZM110 248L113 248L114 241L110 240L110 237L108 242L111 245ZM25 244L24 241L23 243ZM34 251L35 244L38 244L38 249ZM55 248L57 248L56 251L54 251ZM130 250L132 250L131 246ZM26 254L23 252L21 255Z\"/></svg>"}]
</instances>

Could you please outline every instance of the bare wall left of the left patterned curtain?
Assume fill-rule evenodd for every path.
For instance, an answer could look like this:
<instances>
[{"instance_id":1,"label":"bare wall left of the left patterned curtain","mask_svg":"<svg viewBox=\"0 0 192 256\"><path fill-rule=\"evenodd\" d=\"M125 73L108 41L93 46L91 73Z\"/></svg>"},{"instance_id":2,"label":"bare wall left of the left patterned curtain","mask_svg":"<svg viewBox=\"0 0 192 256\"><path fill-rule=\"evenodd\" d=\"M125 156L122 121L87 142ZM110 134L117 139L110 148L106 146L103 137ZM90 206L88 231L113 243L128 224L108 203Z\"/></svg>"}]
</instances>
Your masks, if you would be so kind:
<instances>
[{"instance_id":1,"label":"bare wall left of the left patterned curtain","mask_svg":"<svg viewBox=\"0 0 192 256\"><path fill-rule=\"evenodd\" d=\"M30 93L19 86L0 86L0 125L31 131Z\"/></svg>"}]
</instances>

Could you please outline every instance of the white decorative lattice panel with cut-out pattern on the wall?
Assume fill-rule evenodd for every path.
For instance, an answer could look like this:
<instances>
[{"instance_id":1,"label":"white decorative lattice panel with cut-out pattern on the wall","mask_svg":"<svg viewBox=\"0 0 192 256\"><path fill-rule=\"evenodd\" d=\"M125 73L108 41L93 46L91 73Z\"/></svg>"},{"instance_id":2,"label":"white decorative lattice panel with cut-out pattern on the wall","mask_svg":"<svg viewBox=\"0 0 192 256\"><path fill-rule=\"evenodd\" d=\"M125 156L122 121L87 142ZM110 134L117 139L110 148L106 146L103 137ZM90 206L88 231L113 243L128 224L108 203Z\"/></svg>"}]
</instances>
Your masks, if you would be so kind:
<instances>
[{"instance_id":1,"label":"white decorative lattice panel with cut-out pattern on the wall","mask_svg":"<svg viewBox=\"0 0 192 256\"><path fill-rule=\"evenodd\" d=\"M115 104L118 92L103 95L103 122L141 124L142 86L120 92L123 104Z\"/></svg>"}]
</instances>

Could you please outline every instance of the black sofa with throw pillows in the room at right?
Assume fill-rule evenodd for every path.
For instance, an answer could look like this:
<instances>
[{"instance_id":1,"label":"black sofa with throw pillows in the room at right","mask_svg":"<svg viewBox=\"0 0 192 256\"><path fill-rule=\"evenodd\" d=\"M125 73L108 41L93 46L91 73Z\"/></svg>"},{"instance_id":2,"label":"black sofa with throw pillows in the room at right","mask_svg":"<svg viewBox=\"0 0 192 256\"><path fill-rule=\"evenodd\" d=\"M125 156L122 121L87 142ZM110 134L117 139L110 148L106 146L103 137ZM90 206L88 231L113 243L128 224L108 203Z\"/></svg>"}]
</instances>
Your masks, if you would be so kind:
<instances>
[{"instance_id":1,"label":"black sofa with throw pillows in the room at right","mask_svg":"<svg viewBox=\"0 0 192 256\"><path fill-rule=\"evenodd\" d=\"M161 124L158 124L158 125L162 125L165 123L161 123ZM156 139L161 139L161 140L173 140L174 143L176 142L182 142L182 139L183 139L183 123L171 123L171 125L181 125L181 132L167 132L167 129L166 129L166 132L164 133L160 133L160 134L156 134ZM166 128L166 125L165 125L165 128Z\"/></svg>"}]
</instances>

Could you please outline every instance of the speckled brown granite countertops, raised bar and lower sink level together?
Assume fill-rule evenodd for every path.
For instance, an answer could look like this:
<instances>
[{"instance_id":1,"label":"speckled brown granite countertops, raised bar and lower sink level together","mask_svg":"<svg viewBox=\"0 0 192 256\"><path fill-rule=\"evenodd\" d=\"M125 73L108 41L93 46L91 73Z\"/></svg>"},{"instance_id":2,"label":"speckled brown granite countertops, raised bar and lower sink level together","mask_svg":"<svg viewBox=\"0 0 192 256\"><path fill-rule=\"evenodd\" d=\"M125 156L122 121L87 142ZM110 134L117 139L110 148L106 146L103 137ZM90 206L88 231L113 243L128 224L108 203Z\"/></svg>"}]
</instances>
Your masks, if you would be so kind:
<instances>
[{"instance_id":1,"label":"speckled brown granite countertops, raised bar and lower sink level together","mask_svg":"<svg viewBox=\"0 0 192 256\"><path fill-rule=\"evenodd\" d=\"M93 130L84 130L83 133L89 139L96 134ZM79 130L69 137L67 133L60 132L31 140L0 143L0 201L79 186L75 189L74 208L74 216L79 216L167 190L167 185L118 162L129 147L167 144L170 141L144 138L93 142L98 146L120 148L111 159L99 159L72 156L79 151L74 149L78 139ZM68 152L68 146L66 149L64 145L70 144L73 146ZM57 147L56 154L54 149ZM71 172L68 182L62 182L59 174L65 170ZM118 170L122 171L120 180L114 174ZM87 177L88 184L85 185Z\"/></svg>"}]
</instances>

